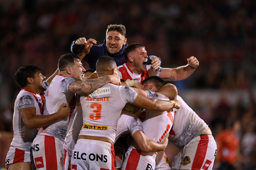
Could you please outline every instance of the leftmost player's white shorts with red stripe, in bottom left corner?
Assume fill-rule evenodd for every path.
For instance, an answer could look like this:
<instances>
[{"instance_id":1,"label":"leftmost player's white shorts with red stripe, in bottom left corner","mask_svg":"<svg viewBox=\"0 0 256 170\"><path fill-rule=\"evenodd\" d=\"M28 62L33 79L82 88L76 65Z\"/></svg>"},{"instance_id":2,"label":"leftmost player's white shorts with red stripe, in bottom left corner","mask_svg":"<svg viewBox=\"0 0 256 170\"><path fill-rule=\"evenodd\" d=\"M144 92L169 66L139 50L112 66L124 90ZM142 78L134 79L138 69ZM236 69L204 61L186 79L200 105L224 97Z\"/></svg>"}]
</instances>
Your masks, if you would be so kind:
<instances>
[{"instance_id":1,"label":"leftmost player's white shorts with red stripe, in bottom left corner","mask_svg":"<svg viewBox=\"0 0 256 170\"><path fill-rule=\"evenodd\" d=\"M6 169L9 169L16 162L28 162L31 164L33 162L32 153L11 146L5 160Z\"/></svg>"}]
</instances>

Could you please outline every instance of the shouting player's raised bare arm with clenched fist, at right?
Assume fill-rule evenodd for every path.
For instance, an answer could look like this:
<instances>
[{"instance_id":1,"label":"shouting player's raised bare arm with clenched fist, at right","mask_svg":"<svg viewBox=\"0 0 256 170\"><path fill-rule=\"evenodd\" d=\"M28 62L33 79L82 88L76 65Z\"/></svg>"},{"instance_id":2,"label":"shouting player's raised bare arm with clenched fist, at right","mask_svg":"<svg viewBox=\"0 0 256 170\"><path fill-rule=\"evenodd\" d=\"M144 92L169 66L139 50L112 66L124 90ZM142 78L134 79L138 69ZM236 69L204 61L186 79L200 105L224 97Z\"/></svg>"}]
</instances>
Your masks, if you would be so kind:
<instances>
[{"instance_id":1,"label":"shouting player's raised bare arm with clenched fist, at right","mask_svg":"<svg viewBox=\"0 0 256 170\"><path fill-rule=\"evenodd\" d=\"M199 66L199 62L194 56L191 56L189 59L187 59L187 62L188 63L186 66L180 66L175 69L163 68L160 77L163 80L169 81L178 81L186 79Z\"/></svg>"}]
</instances>

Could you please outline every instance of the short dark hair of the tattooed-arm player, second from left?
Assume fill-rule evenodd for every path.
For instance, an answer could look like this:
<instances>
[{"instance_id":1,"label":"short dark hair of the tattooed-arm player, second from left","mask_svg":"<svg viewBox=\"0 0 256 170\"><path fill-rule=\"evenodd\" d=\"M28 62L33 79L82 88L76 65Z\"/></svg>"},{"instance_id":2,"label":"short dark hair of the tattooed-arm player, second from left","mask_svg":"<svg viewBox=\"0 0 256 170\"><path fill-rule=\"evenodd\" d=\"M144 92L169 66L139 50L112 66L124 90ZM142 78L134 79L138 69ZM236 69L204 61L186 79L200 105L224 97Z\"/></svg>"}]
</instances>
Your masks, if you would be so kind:
<instances>
[{"instance_id":1,"label":"short dark hair of the tattooed-arm player, second from left","mask_svg":"<svg viewBox=\"0 0 256 170\"><path fill-rule=\"evenodd\" d=\"M73 65L75 60L80 61L80 59L79 56L76 56L73 53L63 54L58 61L58 69L60 71L65 71L67 66Z\"/></svg>"}]
</instances>

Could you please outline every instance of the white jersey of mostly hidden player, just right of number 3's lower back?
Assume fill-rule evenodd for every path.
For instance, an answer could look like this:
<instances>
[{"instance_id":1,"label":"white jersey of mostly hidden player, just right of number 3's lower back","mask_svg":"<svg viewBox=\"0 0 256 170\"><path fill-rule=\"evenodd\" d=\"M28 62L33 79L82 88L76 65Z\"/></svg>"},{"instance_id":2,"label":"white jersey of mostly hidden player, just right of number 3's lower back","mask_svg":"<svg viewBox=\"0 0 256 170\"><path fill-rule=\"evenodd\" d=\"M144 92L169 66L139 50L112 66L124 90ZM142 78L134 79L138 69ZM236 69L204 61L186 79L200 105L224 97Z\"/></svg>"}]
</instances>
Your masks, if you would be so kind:
<instances>
[{"instance_id":1,"label":"white jersey of mostly hidden player, just right of number 3's lower back","mask_svg":"<svg viewBox=\"0 0 256 170\"><path fill-rule=\"evenodd\" d=\"M125 114L125 112L127 112L127 111L124 111L124 110L122 111L122 113L124 113L124 114L121 114L121 116L117 122L117 127L116 127L116 132L115 132L115 142L123 134L130 133L132 135L134 132L136 132L138 130L144 132L141 119L133 117L133 116L129 116L129 115Z\"/></svg>"}]
</instances>

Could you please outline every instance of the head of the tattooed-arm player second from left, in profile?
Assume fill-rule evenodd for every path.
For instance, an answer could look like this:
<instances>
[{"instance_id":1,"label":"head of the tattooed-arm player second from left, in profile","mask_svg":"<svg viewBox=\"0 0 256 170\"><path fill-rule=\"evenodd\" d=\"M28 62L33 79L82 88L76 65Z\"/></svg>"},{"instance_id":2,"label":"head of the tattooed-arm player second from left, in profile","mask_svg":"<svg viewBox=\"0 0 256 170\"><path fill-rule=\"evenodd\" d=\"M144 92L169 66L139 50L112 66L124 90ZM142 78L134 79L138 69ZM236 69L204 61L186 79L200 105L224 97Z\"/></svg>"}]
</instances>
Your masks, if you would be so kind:
<instances>
[{"instance_id":1,"label":"head of the tattooed-arm player second from left, in profile","mask_svg":"<svg viewBox=\"0 0 256 170\"><path fill-rule=\"evenodd\" d=\"M80 61L80 57L73 53L64 54L58 61L58 69L60 74L66 77L71 77L75 80L83 80L83 64Z\"/></svg>"}]
</instances>

